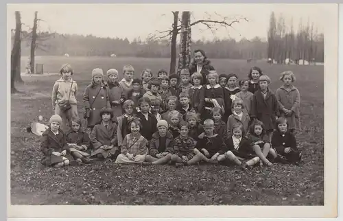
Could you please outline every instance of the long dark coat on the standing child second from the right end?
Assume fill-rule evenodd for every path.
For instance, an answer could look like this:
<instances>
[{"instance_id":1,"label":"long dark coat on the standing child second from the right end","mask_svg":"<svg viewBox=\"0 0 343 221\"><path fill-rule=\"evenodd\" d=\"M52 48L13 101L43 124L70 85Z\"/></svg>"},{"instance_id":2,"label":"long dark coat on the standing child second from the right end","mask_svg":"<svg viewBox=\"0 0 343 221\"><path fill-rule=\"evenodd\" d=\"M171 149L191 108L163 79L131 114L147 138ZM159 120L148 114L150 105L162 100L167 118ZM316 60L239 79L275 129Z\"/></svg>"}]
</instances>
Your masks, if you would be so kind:
<instances>
[{"instance_id":1,"label":"long dark coat on the standing child second from the right end","mask_svg":"<svg viewBox=\"0 0 343 221\"><path fill-rule=\"evenodd\" d=\"M276 96L269 89L265 99L262 92L256 91L252 96L251 117L263 122L265 130L276 128L276 117L280 116Z\"/></svg>"}]
</instances>

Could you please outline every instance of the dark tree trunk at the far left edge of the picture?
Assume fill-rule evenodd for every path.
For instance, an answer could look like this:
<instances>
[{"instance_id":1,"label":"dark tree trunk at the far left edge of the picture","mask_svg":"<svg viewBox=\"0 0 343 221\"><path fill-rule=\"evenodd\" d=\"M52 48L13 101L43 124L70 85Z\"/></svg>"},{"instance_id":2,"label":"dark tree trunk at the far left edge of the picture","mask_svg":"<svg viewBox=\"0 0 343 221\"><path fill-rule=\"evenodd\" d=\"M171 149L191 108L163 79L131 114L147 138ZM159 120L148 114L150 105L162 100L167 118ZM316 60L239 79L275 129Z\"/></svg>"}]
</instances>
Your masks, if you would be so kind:
<instances>
[{"instance_id":1,"label":"dark tree trunk at the far left edge of the picture","mask_svg":"<svg viewBox=\"0 0 343 221\"><path fill-rule=\"evenodd\" d=\"M11 93L16 93L17 90L14 86L16 80L16 73L20 68L21 62L21 14L16 11L16 32L14 34L14 44L11 51ZM19 70L20 73L20 70Z\"/></svg>"}]
</instances>

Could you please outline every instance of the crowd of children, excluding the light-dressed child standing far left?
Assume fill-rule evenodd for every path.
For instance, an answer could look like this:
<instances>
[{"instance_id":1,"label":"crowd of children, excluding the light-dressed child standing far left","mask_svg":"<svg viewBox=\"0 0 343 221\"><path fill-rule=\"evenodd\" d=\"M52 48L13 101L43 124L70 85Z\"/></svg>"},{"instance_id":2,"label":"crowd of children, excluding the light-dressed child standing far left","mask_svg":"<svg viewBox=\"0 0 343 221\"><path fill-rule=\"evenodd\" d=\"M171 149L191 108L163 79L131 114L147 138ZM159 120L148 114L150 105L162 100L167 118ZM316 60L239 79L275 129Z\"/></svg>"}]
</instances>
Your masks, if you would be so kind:
<instances>
[{"instance_id":1,"label":"crowd of children, excluding the light-dressed child standing far left","mask_svg":"<svg viewBox=\"0 0 343 221\"><path fill-rule=\"evenodd\" d=\"M53 115L41 142L45 165L62 166L112 159L142 165L193 165L232 161L247 169L257 163L298 163L294 130L299 121L300 94L292 71L281 73L283 85L272 93L270 78L252 67L248 79L182 69L180 76L164 69L153 78L144 69L134 78L131 65L118 71L92 71L84 91L84 118L72 117L67 133ZM72 82L72 80L71 80Z\"/></svg>"}]
</instances>

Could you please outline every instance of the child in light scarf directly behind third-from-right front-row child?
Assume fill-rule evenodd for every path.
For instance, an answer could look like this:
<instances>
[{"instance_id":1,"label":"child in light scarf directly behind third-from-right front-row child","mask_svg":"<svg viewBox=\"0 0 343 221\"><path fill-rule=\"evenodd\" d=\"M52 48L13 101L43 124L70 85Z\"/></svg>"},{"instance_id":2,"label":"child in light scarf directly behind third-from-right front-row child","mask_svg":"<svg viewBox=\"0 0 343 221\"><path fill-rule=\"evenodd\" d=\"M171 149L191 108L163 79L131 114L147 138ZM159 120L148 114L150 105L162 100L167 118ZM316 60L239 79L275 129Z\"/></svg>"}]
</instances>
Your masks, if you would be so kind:
<instances>
[{"instance_id":1,"label":"child in light scarf directly behind third-from-right front-row child","mask_svg":"<svg viewBox=\"0 0 343 221\"><path fill-rule=\"evenodd\" d=\"M244 131L248 131L248 126L250 123L249 115L243 111L244 110L243 100L236 97L235 100L233 100L231 106L233 108L233 113L232 115L228 117L228 121L227 121L228 137L231 136L231 131L233 131L234 124L239 123L243 126Z\"/></svg>"}]
</instances>

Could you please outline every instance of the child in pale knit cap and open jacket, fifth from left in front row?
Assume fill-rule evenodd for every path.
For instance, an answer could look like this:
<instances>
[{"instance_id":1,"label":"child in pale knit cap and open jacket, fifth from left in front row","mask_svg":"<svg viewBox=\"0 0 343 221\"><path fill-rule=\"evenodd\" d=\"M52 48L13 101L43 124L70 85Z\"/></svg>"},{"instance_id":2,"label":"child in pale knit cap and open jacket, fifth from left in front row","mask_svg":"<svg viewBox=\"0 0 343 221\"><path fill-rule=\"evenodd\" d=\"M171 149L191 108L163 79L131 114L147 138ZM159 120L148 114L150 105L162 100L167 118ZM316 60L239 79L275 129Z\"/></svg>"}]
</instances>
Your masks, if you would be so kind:
<instances>
[{"instance_id":1,"label":"child in pale knit cap and open jacket, fifth from left in front row","mask_svg":"<svg viewBox=\"0 0 343 221\"><path fill-rule=\"evenodd\" d=\"M174 153L174 137L168 131L168 123L164 119L157 122L157 132L152 135L149 153L145 156L144 165L165 164L171 160Z\"/></svg>"}]
</instances>

